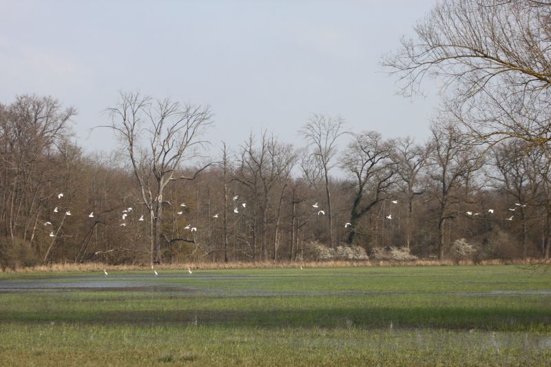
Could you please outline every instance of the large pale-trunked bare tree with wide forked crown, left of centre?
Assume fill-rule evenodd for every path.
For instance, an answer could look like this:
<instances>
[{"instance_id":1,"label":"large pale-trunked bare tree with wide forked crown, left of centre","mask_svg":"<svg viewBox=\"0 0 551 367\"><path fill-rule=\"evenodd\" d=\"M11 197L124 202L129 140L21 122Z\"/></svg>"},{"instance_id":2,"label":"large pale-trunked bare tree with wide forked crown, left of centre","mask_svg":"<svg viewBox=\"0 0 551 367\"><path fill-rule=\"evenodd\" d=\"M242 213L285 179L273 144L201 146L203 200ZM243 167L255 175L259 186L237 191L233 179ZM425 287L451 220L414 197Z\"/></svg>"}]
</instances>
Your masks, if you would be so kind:
<instances>
[{"instance_id":1,"label":"large pale-trunked bare tree with wide forked crown, left of centre","mask_svg":"<svg viewBox=\"0 0 551 367\"><path fill-rule=\"evenodd\" d=\"M192 180L178 172L203 147L205 129L211 125L209 106L180 104L169 98L153 101L147 95L122 93L118 103L107 109L110 127L121 140L132 162L143 205L149 211L150 263L160 262L163 223L163 192L170 182Z\"/></svg>"}]
</instances>

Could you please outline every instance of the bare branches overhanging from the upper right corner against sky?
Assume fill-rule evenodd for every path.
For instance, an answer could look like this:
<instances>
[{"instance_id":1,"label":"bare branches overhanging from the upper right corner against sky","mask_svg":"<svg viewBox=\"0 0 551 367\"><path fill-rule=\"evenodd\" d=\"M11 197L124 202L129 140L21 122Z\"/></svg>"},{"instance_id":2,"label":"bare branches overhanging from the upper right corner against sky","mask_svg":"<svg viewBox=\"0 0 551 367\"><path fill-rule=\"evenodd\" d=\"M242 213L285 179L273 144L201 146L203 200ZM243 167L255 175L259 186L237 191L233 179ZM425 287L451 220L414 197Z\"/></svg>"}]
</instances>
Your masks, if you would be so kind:
<instances>
[{"instance_id":1,"label":"bare branches overhanging from the upper right corner against sky","mask_svg":"<svg viewBox=\"0 0 551 367\"><path fill-rule=\"evenodd\" d=\"M438 78L448 109L479 141L546 145L550 17L545 1L441 1L415 27L416 38L404 37L383 65L406 95L426 75Z\"/></svg>"}]
</instances>

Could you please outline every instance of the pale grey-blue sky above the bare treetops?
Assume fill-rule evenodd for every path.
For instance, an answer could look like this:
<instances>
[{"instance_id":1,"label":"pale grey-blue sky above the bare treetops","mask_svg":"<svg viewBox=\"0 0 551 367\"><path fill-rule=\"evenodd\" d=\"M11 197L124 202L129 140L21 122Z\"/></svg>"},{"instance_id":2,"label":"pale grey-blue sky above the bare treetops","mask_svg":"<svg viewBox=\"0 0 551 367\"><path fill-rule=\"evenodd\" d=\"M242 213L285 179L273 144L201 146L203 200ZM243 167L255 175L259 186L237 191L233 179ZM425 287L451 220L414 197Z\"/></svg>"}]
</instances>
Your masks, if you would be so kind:
<instances>
[{"instance_id":1,"label":"pale grey-blue sky above the bare treetops","mask_svg":"<svg viewBox=\"0 0 551 367\"><path fill-rule=\"evenodd\" d=\"M380 66L435 0L0 0L0 103L48 95L79 111L86 151L116 141L105 109L120 91L210 105L211 149L263 129L303 145L312 114L352 132L428 137L437 90L398 96Z\"/></svg>"}]
</instances>

